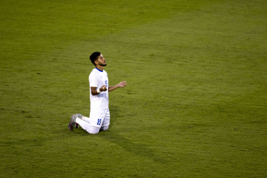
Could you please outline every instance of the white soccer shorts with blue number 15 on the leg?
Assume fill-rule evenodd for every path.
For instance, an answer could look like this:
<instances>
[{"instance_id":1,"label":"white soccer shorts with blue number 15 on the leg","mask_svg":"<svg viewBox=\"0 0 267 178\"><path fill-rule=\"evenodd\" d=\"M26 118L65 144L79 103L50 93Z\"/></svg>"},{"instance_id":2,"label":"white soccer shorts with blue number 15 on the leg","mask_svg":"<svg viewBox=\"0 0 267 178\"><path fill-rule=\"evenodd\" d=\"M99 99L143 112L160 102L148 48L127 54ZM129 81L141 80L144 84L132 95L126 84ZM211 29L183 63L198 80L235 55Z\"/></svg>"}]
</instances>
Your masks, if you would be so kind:
<instances>
[{"instance_id":1,"label":"white soccer shorts with blue number 15 on the leg","mask_svg":"<svg viewBox=\"0 0 267 178\"><path fill-rule=\"evenodd\" d=\"M94 127L105 127L109 125L110 115L107 109L90 109L90 125Z\"/></svg>"}]
</instances>

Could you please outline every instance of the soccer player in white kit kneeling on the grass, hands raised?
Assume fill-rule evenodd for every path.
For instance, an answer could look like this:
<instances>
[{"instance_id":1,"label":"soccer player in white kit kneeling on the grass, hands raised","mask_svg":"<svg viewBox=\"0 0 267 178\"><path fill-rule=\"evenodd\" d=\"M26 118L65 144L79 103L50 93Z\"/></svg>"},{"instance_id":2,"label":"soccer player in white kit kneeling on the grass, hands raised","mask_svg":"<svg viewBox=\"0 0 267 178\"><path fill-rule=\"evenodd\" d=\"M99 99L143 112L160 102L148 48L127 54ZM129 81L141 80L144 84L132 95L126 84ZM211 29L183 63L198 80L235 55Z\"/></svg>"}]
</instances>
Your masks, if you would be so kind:
<instances>
[{"instance_id":1,"label":"soccer player in white kit kneeling on the grass, hands raised","mask_svg":"<svg viewBox=\"0 0 267 178\"><path fill-rule=\"evenodd\" d=\"M71 116L68 127L72 131L74 125L76 128L80 125L88 133L97 134L100 130L107 130L109 128L108 92L119 87L125 87L126 81L109 86L107 72L104 71L104 66L107 65L106 59L101 53L94 52L90 55L90 60L96 66L89 75L90 116L85 117L81 114L74 114Z\"/></svg>"}]
</instances>

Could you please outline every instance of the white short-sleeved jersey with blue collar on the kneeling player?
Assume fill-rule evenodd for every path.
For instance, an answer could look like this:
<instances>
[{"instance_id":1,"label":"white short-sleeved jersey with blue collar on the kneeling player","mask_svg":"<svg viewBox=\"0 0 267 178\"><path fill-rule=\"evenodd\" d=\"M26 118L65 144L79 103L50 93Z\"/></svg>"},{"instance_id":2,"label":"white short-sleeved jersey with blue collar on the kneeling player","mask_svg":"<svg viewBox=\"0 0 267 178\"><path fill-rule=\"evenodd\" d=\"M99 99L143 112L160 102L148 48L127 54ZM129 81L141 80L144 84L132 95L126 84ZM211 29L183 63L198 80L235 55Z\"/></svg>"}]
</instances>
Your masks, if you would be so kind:
<instances>
[{"instance_id":1,"label":"white short-sleeved jersey with blue collar on the kneeling player","mask_svg":"<svg viewBox=\"0 0 267 178\"><path fill-rule=\"evenodd\" d=\"M101 71L97 68L93 69L89 75L90 83L90 106L92 109L107 109L109 107L109 79L106 71ZM91 93L91 87L96 89L106 85L107 91L102 91L98 95L93 96Z\"/></svg>"}]
</instances>

